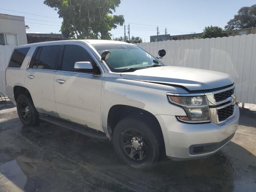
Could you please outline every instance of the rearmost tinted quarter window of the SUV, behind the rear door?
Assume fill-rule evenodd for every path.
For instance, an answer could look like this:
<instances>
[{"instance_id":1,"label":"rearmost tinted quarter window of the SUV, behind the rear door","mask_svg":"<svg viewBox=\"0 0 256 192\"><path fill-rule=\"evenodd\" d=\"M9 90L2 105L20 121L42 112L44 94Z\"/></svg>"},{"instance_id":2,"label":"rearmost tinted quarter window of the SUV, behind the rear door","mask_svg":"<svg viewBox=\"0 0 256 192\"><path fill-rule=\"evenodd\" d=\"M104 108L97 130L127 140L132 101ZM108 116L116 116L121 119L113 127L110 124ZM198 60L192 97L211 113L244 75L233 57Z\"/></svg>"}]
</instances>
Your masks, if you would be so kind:
<instances>
[{"instance_id":1,"label":"rearmost tinted quarter window of the SUV, behind the rear door","mask_svg":"<svg viewBox=\"0 0 256 192\"><path fill-rule=\"evenodd\" d=\"M29 49L30 47L14 49L8 67L19 68L22 65Z\"/></svg>"}]
</instances>

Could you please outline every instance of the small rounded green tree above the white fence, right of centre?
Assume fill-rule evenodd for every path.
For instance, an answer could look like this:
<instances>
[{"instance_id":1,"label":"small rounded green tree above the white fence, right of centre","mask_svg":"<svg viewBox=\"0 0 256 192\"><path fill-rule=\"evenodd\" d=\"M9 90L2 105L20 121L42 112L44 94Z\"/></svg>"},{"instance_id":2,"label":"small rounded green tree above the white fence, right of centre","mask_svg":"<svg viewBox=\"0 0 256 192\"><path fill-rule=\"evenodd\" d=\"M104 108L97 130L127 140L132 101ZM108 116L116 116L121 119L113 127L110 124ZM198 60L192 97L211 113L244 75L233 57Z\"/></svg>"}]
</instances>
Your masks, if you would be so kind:
<instances>
[{"instance_id":1,"label":"small rounded green tree above the white fence, right of centre","mask_svg":"<svg viewBox=\"0 0 256 192\"><path fill-rule=\"evenodd\" d=\"M200 38L212 38L212 37L227 37L228 34L225 30L217 26L208 26L204 28L204 32Z\"/></svg>"}]
</instances>

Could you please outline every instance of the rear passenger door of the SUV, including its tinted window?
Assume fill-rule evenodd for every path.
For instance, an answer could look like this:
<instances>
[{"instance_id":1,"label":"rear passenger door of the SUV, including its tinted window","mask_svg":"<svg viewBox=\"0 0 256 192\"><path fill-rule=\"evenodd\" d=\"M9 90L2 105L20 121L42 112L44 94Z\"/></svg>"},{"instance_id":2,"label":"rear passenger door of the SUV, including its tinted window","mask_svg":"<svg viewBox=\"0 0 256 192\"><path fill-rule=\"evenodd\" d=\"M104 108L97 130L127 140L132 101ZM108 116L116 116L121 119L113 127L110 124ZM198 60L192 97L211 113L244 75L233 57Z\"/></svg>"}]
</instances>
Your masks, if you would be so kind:
<instances>
[{"instance_id":1,"label":"rear passenger door of the SUV, including its tinted window","mask_svg":"<svg viewBox=\"0 0 256 192\"><path fill-rule=\"evenodd\" d=\"M57 70L61 45L36 48L26 72L25 87L38 112L56 116L54 73Z\"/></svg>"}]
</instances>

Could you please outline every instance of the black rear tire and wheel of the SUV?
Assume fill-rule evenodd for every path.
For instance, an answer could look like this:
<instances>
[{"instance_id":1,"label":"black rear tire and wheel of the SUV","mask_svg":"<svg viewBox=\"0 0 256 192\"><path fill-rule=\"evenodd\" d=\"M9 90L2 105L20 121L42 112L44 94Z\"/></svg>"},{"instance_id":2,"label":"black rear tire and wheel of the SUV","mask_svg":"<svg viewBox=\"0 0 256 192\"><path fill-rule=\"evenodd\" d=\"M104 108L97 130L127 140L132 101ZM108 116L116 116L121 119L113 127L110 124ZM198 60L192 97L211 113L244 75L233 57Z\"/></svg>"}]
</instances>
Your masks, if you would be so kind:
<instances>
[{"instance_id":1,"label":"black rear tire and wheel of the SUV","mask_svg":"<svg viewBox=\"0 0 256 192\"><path fill-rule=\"evenodd\" d=\"M21 94L18 96L16 103L18 116L24 125L33 126L38 124L39 115L30 97Z\"/></svg>"}]
</instances>

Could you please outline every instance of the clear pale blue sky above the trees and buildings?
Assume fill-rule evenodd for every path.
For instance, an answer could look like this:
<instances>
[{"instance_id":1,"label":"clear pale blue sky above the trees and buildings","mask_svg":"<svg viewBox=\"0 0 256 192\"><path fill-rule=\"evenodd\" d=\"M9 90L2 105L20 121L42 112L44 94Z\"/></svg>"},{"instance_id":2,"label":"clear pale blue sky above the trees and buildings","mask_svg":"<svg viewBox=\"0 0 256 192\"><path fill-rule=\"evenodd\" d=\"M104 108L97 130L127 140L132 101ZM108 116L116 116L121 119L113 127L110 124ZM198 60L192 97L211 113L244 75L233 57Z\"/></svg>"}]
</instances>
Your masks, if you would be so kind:
<instances>
[{"instance_id":1,"label":"clear pale blue sky above the trees and buildings","mask_svg":"<svg viewBox=\"0 0 256 192\"><path fill-rule=\"evenodd\" d=\"M2 0L0 13L25 17L31 33L60 33L62 19L44 0ZM121 0L114 14L124 15L130 36L140 36L143 42L150 35L177 35L200 33L206 26L224 28L243 6L252 6L256 0ZM124 26L112 30L114 37L124 36ZM127 35L127 30L126 30Z\"/></svg>"}]
</instances>

